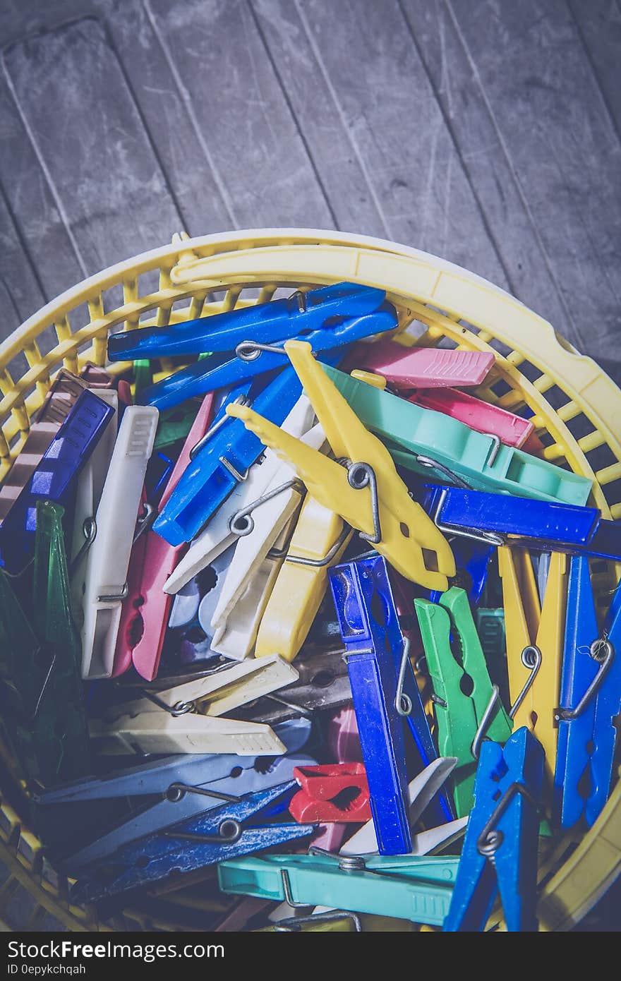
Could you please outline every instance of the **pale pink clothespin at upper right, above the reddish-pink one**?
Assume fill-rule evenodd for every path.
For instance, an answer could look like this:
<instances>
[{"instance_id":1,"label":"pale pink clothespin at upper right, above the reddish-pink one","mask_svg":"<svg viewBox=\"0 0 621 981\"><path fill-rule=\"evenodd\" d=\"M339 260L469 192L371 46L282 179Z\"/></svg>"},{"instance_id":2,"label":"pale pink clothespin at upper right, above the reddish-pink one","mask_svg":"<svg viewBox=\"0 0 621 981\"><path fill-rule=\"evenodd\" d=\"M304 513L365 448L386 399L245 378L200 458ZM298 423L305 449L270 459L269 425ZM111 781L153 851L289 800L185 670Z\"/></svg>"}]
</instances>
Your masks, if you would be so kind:
<instances>
[{"instance_id":1,"label":"pale pink clothespin at upper right, above the reddish-pink one","mask_svg":"<svg viewBox=\"0 0 621 981\"><path fill-rule=\"evenodd\" d=\"M403 347L393 340L356 344L346 370L377 372L395 388L446 388L481 385L494 362L485 351L443 347Z\"/></svg>"}]
</instances>

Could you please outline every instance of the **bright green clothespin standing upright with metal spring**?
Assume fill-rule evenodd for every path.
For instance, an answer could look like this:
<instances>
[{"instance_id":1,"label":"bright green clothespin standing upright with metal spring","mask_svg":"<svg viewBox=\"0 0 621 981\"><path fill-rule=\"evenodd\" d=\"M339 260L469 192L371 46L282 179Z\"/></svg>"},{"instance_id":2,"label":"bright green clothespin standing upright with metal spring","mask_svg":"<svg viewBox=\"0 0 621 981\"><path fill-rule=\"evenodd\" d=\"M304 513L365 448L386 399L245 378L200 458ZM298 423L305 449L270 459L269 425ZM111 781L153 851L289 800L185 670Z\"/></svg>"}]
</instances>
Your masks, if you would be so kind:
<instances>
[{"instance_id":1,"label":"bright green clothespin standing upright with metal spring","mask_svg":"<svg viewBox=\"0 0 621 981\"><path fill-rule=\"evenodd\" d=\"M438 745L442 756L456 756L453 774L458 817L472 805L478 749L484 735L503 743L511 734L511 720L492 688L468 596L452 587L439 603L415 599L414 607L423 637L427 668L434 686ZM450 640L459 645L461 663ZM466 695L464 682L470 679Z\"/></svg>"}]
</instances>

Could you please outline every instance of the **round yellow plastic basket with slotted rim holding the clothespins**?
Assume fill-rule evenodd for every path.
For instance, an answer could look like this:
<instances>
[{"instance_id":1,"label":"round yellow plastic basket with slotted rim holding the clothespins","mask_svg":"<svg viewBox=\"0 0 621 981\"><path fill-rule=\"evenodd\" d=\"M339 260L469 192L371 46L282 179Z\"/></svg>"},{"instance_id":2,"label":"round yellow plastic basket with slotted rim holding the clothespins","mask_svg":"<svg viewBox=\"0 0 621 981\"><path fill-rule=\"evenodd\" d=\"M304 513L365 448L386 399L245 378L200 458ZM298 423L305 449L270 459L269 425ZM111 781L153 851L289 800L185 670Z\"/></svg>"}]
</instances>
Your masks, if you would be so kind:
<instances>
[{"instance_id":1,"label":"round yellow plastic basket with slotted rim holding the clothespins","mask_svg":"<svg viewBox=\"0 0 621 981\"><path fill-rule=\"evenodd\" d=\"M492 351L495 367L478 394L513 411L524 404L543 439L543 457L591 478L606 518L621 517L621 391L591 358L513 296L436 256L361 235L278 229L188 238L120 263L63 293L0 346L0 478L26 439L50 377L65 365L106 365L110 331L175 323L271 299L287 291L340 281L380 286L399 312L402 343ZM115 364L119 373L129 365ZM612 568L603 581L610 584ZM11 760L5 765L12 772ZM9 800L19 801L17 776L0 789L0 917L10 919L16 895L27 894L24 929L188 929L189 904L207 901L173 893L166 904L127 909L100 923L93 909L68 901L68 883L46 862L40 842ZM19 803L17 804L19 807ZM571 834L543 864L539 904L543 930L567 930L621 871L621 781L591 830ZM26 908L26 897L21 908ZM500 924L501 926L501 924ZM2 920L0 919L0 928ZM8 927L7 927L8 928ZM191 927L190 927L191 928Z\"/></svg>"}]
</instances>

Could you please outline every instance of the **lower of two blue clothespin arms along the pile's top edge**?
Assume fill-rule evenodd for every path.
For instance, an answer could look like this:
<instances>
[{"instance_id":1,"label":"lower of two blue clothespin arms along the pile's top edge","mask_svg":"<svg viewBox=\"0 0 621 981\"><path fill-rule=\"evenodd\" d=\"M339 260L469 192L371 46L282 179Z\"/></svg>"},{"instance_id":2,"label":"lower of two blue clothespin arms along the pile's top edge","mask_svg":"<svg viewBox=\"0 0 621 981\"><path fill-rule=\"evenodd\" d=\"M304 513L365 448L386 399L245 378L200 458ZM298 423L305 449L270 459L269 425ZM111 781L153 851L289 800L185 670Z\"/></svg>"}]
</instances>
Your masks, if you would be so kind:
<instances>
[{"instance_id":1,"label":"lower of two blue clothespin arms along the pile's top edge","mask_svg":"<svg viewBox=\"0 0 621 981\"><path fill-rule=\"evenodd\" d=\"M313 351L319 352L342 348L372 334L393 331L396 326L394 308L384 303L375 313L336 322L333 320L317 331L295 334L294 337L308 341ZM140 401L144 405L154 405L160 411L170 409L195 395L204 395L215 388L234 385L282 368L284 358L286 354L282 347L254 338L244 340L237 345L233 357L226 355L223 358L222 354L214 354L202 358L156 385L145 388L140 394Z\"/></svg>"}]
</instances>

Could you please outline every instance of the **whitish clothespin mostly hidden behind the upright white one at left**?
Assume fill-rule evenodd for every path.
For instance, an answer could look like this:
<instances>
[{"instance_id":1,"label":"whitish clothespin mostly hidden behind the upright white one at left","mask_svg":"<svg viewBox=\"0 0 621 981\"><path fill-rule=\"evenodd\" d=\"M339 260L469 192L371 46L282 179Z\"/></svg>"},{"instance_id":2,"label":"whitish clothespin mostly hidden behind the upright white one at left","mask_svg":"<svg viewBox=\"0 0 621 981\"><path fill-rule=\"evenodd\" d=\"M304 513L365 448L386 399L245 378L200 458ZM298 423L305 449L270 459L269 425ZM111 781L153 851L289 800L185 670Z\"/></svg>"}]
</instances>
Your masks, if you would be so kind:
<instances>
[{"instance_id":1,"label":"whitish clothespin mostly hidden behind the upright white one at left","mask_svg":"<svg viewBox=\"0 0 621 981\"><path fill-rule=\"evenodd\" d=\"M97 445L80 470L76 487L70 575L72 608L78 630L81 627L83 616L82 591L86 573L85 552L93 541L94 524L92 523L114 452L119 418L119 395L116 388L97 388L97 397L109 405L114 410L115 415L104 429ZM82 554L78 559L80 551Z\"/></svg>"}]
</instances>

